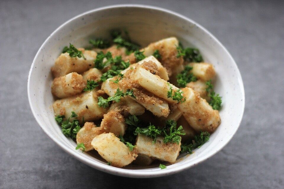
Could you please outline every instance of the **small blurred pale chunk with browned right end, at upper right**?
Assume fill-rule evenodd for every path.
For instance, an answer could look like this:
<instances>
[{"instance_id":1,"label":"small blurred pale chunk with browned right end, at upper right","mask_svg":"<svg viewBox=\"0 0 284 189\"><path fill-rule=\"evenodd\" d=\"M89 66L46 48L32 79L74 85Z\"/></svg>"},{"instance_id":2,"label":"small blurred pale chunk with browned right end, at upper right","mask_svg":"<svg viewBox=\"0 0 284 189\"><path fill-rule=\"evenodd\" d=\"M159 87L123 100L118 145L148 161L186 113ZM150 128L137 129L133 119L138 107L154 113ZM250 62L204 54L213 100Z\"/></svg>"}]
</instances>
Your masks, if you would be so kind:
<instances>
[{"instance_id":1,"label":"small blurred pale chunk with browned right end, at upper right","mask_svg":"<svg viewBox=\"0 0 284 189\"><path fill-rule=\"evenodd\" d=\"M193 75L204 82L213 79L216 75L214 66L210 63L189 63L188 65L192 67Z\"/></svg>"}]
</instances>

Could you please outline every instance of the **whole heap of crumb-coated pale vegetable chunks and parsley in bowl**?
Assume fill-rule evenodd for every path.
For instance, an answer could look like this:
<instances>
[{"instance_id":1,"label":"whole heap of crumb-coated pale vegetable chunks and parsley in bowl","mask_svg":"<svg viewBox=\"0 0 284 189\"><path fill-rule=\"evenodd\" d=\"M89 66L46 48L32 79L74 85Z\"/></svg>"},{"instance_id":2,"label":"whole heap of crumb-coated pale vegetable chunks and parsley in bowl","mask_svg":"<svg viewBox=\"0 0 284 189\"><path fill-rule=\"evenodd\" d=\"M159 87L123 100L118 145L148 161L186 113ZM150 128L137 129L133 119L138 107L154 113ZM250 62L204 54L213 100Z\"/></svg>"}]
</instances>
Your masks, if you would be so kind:
<instances>
[{"instance_id":1,"label":"whole heap of crumb-coated pale vegetable chunks and parsley in bowl","mask_svg":"<svg viewBox=\"0 0 284 189\"><path fill-rule=\"evenodd\" d=\"M76 149L96 150L109 165L164 169L221 123L214 66L175 37L140 48L127 32L111 36L64 47L51 68L55 120Z\"/></svg>"}]
</instances>

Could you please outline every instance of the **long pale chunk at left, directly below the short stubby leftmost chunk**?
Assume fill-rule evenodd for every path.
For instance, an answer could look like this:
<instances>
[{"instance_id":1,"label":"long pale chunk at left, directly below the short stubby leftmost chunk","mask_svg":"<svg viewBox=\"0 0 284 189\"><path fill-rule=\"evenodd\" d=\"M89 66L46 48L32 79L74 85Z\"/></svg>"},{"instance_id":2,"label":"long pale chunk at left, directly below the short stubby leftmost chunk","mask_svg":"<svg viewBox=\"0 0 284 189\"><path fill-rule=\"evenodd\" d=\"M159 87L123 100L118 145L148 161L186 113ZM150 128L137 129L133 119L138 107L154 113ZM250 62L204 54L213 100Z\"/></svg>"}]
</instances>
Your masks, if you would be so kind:
<instances>
[{"instance_id":1,"label":"long pale chunk at left, directly below the short stubby leftmost chunk","mask_svg":"<svg viewBox=\"0 0 284 189\"><path fill-rule=\"evenodd\" d=\"M98 94L99 91L92 90L83 92L74 97L68 97L56 100L53 104L53 109L56 115L65 115L66 118L71 117L71 112L74 111L78 117L76 119L82 123L84 121L94 121L103 118L107 109L99 107ZM70 118L73 120L74 118Z\"/></svg>"}]
</instances>

